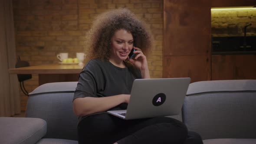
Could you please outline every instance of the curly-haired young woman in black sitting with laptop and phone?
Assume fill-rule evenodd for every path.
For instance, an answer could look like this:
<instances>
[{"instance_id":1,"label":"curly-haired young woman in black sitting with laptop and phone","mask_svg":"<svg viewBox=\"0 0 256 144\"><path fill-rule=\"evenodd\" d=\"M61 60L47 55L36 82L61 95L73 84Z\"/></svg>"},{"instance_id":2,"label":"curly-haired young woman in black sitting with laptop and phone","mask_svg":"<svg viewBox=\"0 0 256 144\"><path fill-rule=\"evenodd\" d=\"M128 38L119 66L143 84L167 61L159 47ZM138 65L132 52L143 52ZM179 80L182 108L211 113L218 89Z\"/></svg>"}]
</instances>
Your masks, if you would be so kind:
<instances>
[{"instance_id":1,"label":"curly-haired young woman in black sitting with laptop and phone","mask_svg":"<svg viewBox=\"0 0 256 144\"><path fill-rule=\"evenodd\" d=\"M133 81L150 78L145 53L152 46L151 35L133 13L102 13L86 44L90 60L73 98L79 144L203 144L198 134L188 136L186 126L173 118L123 120L106 113L126 109ZM135 54L131 59L130 52Z\"/></svg>"}]
</instances>

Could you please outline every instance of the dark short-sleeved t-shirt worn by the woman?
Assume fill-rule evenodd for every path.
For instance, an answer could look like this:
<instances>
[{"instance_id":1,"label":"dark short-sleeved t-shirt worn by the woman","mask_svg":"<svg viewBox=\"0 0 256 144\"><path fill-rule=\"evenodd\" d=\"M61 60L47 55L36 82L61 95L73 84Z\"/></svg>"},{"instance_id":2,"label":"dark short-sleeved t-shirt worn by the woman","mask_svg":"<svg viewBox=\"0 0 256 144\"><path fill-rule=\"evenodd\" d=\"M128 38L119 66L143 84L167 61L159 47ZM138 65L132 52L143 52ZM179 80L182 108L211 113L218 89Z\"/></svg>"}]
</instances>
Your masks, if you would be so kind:
<instances>
[{"instance_id":1,"label":"dark short-sleeved t-shirt worn by the woman","mask_svg":"<svg viewBox=\"0 0 256 144\"><path fill-rule=\"evenodd\" d=\"M141 79L141 72L125 64L125 68L120 68L108 60L92 59L87 62L79 74L73 99L130 94L132 83L135 79ZM127 104L123 103L110 110L126 108Z\"/></svg>"}]
</instances>

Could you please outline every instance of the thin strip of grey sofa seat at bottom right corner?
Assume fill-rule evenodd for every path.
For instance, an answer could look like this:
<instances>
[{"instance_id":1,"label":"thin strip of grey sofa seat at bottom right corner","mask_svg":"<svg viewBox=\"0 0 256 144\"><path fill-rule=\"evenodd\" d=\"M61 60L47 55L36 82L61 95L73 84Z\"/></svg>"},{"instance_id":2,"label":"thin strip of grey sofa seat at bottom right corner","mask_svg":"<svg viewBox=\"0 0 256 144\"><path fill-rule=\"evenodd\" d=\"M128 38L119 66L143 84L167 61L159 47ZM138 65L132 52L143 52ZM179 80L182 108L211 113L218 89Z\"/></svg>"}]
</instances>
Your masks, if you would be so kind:
<instances>
[{"instance_id":1,"label":"thin strip of grey sofa seat at bottom right corner","mask_svg":"<svg viewBox=\"0 0 256 144\"><path fill-rule=\"evenodd\" d=\"M256 144L256 139L219 138L203 140L203 144Z\"/></svg>"}]
</instances>

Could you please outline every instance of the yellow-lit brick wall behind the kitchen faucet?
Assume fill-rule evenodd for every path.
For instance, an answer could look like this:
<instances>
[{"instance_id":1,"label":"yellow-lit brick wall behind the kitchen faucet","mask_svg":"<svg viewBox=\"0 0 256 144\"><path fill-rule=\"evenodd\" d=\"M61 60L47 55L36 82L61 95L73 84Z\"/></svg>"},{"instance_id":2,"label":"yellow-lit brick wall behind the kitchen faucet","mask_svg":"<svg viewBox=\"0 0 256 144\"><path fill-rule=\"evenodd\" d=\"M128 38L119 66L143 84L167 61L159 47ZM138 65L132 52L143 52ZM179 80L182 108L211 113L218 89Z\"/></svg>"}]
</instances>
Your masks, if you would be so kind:
<instances>
[{"instance_id":1,"label":"yellow-lit brick wall behind the kitchen faucet","mask_svg":"<svg viewBox=\"0 0 256 144\"><path fill-rule=\"evenodd\" d=\"M256 36L256 10L211 11L212 36Z\"/></svg>"}]
</instances>

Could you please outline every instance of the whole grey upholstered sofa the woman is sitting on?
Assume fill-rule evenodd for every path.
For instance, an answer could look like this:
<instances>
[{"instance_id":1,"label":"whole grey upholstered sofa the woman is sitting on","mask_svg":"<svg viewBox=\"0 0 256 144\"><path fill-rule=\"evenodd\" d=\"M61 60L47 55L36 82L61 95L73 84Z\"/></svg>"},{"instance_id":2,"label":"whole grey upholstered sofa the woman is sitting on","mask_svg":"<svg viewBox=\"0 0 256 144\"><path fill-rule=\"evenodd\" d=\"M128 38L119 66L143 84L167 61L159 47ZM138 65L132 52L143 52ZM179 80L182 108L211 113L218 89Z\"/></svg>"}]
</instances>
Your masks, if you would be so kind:
<instances>
[{"instance_id":1,"label":"whole grey upholstered sofa the woman is sitting on","mask_svg":"<svg viewBox=\"0 0 256 144\"><path fill-rule=\"evenodd\" d=\"M1 125L9 124L4 127L9 133L0 130L0 136L6 136L0 143L78 144L72 111L76 84L57 82L36 88L30 93L26 118L0 118ZM204 144L256 144L256 80L191 83L181 115L173 117L198 132Z\"/></svg>"}]
</instances>

